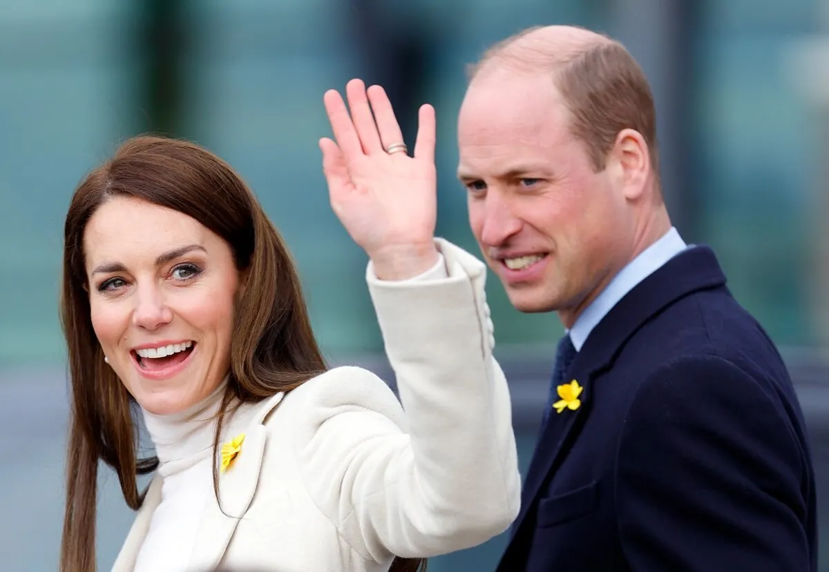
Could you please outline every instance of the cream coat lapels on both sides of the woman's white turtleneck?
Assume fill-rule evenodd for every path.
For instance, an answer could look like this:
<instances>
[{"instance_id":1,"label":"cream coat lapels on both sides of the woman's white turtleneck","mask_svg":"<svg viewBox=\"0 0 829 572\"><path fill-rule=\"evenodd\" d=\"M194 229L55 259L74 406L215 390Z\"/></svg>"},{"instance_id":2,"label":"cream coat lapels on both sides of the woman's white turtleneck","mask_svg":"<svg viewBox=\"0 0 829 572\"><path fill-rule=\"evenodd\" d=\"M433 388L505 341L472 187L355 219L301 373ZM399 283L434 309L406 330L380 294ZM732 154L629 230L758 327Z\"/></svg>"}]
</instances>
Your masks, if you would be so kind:
<instances>
[{"instance_id":1,"label":"cream coat lapels on both sides of the woman's white turtleneck","mask_svg":"<svg viewBox=\"0 0 829 572\"><path fill-rule=\"evenodd\" d=\"M201 513L196 542L190 556L188 570L214 570L225 555L230 538L242 517L245 516L259 484L259 473L264 458L267 439L265 421L271 411L282 401L284 393L278 393L265 401L250 426L245 430L245 441L233 464L219 473L219 500L210 497ZM216 458L214 463L218 463ZM129 531L124 547L115 560L113 572L132 572L138 551L149 531L153 512L162 500L162 482L156 474L149 484L144 502Z\"/></svg>"}]
</instances>

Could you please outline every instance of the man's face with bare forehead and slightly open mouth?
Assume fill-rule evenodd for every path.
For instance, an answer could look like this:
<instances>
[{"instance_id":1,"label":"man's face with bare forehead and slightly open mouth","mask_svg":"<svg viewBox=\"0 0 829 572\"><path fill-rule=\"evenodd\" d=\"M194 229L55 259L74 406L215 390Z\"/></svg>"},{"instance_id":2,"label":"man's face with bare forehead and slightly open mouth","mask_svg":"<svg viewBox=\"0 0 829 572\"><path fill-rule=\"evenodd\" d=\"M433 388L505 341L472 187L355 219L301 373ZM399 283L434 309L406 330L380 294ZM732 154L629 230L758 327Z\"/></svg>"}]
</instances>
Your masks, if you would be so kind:
<instances>
[{"instance_id":1,"label":"man's face with bare forehead and slightly open mouth","mask_svg":"<svg viewBox=\"0 0 829 572\"><path fill-rule=\"evenodd\" d=\"M618 165L594 171L549 75L507 70L473 79L458 147L473 234L512 305L572 325L633 240Z\"/></svg>"}]
</instances>

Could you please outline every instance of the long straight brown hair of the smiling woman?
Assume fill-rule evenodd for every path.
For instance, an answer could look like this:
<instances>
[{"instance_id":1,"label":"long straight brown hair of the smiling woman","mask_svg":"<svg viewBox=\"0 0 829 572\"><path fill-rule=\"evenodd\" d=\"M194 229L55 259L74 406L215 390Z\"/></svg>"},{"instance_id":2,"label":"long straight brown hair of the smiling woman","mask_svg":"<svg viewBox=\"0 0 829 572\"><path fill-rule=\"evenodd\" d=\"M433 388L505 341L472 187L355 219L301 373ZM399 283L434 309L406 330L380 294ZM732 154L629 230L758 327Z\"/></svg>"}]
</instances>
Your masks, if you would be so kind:
<instances>
[{"instance_id":1,"label":"long straight brown hair of the smiling woman","mask_svg":"<svg viewBox=\"0 0 829 572\"><path fill-rule=\"evenodd\" d=\"M137 477L158 468L138 456L138 410L95 337L83 238L95 210L115 196L142 199L187 214L230 245L245 291L235 311L230 382L221 422L234 401L289 392L326 370L308 319L298 273L283 239L233 169L211 152L167 137L133 137L81 180L64 226L61 324L69 353L71 426L61 572L94 572L99 461L118 474L124 500L138 510L146 494ZM216 485L214 469L214 486ZM414 572L425 560L395 559L390 570Z\"/></svg>"}]
</instances>

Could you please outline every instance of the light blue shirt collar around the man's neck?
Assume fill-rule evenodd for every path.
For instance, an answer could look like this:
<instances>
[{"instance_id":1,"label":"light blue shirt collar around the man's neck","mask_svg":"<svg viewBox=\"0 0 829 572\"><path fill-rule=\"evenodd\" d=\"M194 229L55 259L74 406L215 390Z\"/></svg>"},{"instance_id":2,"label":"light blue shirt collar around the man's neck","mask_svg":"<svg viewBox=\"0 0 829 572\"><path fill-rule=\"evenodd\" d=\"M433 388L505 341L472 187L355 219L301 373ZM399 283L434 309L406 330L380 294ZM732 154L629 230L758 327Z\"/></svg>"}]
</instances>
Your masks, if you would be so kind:
<instances>
[{"instance_id":1,"label":"light blue shirt collar around the man's neck","mask_svg":"<svg viewBox=\"0 0 829 572\"><path fill-rule=\"evenodd\" d=\"M677 254L688 248L676 228L671 227L662 238L645 248L638 257L628 263L608 284L608 287L584 309L584 312L575 320L570 328L570 341L578 352L584 345L590 332L599 324L604 316L618 304L622 298L639 282L659 270L662 265Z\"/></svg>"}]
</instances>

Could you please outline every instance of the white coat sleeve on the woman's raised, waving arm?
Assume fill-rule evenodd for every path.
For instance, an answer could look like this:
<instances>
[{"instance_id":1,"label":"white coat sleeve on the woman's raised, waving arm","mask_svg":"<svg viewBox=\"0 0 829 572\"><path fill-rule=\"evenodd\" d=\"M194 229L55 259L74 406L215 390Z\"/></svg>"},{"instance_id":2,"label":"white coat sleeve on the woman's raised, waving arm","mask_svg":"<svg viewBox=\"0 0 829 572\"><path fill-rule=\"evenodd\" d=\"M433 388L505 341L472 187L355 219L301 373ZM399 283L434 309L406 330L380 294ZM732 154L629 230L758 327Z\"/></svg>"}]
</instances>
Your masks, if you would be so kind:
<instances>
[{"instance_id":1,"label":"white coat sleeve on the woman's raised, waving arm","mask_svg":"<svg viewBox=\"0 0 829 572\"><path fill-rule=\"evenodd\" d=\"M381 282L369 269L400 401L361 368L336 368L300 388L293 442L303 482L340 536L371 560L477 546L507 530L519 510L486 270L439 244L443 278Z\"/></svg>"}]
</instances>

